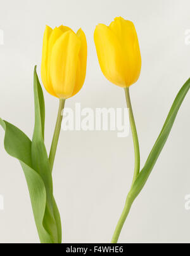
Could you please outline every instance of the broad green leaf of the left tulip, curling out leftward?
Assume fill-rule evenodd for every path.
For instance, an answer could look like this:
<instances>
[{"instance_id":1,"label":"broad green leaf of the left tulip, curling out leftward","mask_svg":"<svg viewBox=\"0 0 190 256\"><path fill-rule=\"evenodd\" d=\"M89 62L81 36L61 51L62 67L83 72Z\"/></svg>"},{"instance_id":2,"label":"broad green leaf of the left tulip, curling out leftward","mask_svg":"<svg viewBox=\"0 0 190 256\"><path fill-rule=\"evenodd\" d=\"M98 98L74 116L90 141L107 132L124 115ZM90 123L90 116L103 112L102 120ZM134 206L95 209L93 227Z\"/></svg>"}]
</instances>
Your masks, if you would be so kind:
<instances>
[{"instance_id":1,"label":"broad green leaf of the left tulip, curling out leftward","mask_svg":"<svg viewBox=\"0 0 190 256\"><path fill-rule=\"evenodd\" d=\"M6 152L13 158L17 158L22 165L41 243L53 243L51 236L49 236L43 225L46 208L46 188L40 175L32 168L31 140L16 126L3 121L1 118L0 125L5 130L4 148Z\"/></svg>"}]
</instances>

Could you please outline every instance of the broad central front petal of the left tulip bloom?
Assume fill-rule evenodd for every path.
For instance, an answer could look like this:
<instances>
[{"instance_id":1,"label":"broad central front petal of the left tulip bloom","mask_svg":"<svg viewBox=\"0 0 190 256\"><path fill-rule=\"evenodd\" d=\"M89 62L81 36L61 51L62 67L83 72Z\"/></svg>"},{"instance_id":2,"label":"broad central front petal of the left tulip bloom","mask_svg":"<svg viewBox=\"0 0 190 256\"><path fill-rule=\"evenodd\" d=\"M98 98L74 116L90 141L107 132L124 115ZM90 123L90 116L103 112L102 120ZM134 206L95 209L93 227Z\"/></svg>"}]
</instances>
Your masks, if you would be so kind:
<instances>
[{"instance_id":1,"label":"broad central front petal of the left tulip bloom","mask_svg":"<svg viewBox=\"0 0 190 256\"><path fill-rule=\"evenodd\" d=\"M53 90L59 98L68 98L73 93L80 44L79 38L68 30L52 48L49 74Z\"/></svg>"}]
</instances>

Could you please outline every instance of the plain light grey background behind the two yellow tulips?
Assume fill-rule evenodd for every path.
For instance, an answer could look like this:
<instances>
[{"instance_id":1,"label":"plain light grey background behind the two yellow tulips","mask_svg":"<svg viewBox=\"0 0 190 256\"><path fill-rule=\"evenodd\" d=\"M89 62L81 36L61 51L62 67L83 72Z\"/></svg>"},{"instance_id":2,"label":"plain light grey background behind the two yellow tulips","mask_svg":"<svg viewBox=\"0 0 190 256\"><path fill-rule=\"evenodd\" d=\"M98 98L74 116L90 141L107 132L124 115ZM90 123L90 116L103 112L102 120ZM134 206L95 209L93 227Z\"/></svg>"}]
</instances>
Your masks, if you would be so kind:
<instances>
[{"instance_id":1,"label":"plain light grey background behind the two yellow tulips","mask_svg":"<svg viewBox=\"0 0 190 256\"><path fill-rule=\"evenodd\" d=\"M160 132L168 110L190 76L189 0L1 0L0 116L32 136L34 103L32 74L40 74L45 25L82 27L88 43L85 84L66 101L67 107L125 107L124 91L100 71L93 32L96 24L110 24L122 16L136 25L142 54L139 81L131 87L139 133L141 166ZM58 100L44 90L46 145L49 151ZM187 95L174 128L143 191L136 199L120 242L189 242L190 194L189 111ZM27 184L16 159L6 154L0 132L0 242L39 242ZM63 241L109 242L122 212L132 180L134 156L131 134L61 131L54 166L54 194L63 224Z\"/></svg>"}]
</instances>

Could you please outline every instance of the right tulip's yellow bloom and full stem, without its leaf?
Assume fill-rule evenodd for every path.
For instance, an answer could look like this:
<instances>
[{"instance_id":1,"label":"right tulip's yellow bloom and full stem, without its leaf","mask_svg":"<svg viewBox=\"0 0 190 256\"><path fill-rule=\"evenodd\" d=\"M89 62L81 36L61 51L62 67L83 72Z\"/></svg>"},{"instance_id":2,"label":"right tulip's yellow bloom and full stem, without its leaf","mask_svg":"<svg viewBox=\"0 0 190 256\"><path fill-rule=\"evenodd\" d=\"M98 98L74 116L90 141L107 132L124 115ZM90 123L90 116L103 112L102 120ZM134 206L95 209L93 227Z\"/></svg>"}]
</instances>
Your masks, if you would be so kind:
<instances>
[{"instance_id":1,"label":"right tulip's yellow bloom and full stem, without its leaf","mask_svg":"<svg viewBox=\"0 0 190 256\"><path fill-rule=\"evenodd\" d=\"M133 185L139 175L140 152L129 86L136 83L141 72L141 53L134 24L129 20L124 20L122 17L115 18L108 27L104 24L99 24L94 31L94 43L101 71L111 83L123 87L125 90L134 143ZM113 234L113 243L118 241L118 236L129 213L127 211L129 211L128 202L125 203L124 212Z\"/></svg>"}]
</instances>

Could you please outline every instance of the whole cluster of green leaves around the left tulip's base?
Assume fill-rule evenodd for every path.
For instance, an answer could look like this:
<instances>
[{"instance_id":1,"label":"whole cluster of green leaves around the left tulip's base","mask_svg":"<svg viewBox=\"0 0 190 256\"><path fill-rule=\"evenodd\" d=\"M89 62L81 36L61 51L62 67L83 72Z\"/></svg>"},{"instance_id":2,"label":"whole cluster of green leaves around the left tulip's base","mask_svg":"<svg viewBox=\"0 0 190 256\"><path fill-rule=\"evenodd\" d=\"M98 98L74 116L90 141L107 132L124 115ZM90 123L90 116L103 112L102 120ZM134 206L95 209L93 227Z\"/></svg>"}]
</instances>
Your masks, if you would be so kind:
<instances>
[{"instance_id":1,"label":"whole cluster of green leaves around the left tulip's base","mask_svg":"<svg viewBox=\"0 0 190 256\"><path fill-rule=\"evenodd\" d=\"M53 197L53 180L44 145L45 104L34 69L35 126L31 140L16 126L0 119L5 130L4 147L17 158L28 184L35 224L41 243L61 243L60 213Z\"/></svg>"}]
</instances>

